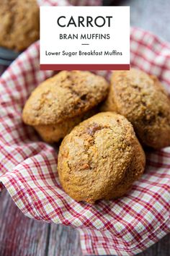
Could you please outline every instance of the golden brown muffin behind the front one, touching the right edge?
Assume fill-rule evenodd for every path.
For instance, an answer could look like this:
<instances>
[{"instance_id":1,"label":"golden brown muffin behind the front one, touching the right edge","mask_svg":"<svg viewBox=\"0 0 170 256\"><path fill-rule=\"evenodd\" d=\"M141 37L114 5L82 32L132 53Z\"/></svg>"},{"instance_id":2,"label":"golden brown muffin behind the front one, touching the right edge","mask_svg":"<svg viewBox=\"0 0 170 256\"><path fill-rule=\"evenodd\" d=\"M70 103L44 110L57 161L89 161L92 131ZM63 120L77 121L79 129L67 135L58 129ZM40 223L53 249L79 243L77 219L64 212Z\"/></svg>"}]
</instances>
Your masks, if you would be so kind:
<instances>
[{"instance_id":1,"label":"golden brown muffin behind the front one, touching the right edge","mask_svg":"<svg viewBox=\"0 0 170 256\"><path fill-rule=\"evenodd\" d=\"M155 76L138 69L114 72L102 110L125 116L144 145L170 145L170 101Z\"/></svg>"}]
</instances>

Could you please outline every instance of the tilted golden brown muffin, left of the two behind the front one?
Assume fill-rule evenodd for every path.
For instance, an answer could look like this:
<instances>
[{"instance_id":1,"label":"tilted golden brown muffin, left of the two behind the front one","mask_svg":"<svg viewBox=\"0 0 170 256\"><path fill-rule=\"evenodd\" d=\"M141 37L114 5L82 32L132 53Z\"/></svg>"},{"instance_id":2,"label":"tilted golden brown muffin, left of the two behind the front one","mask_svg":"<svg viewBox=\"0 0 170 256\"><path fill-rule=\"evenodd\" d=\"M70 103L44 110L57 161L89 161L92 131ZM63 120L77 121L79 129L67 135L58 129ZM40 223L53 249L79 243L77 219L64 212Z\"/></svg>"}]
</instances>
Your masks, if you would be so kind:
<instances>
[{"instance_id":1,"label":"tilted golden brown muffin, left of the two behind the front one","mask_svg":"<svg viewBox=\"0 0 170 256\"><path fill-rule=\"evenodd\" d=\"M94 114L106 98L107 81L91 72L62 71L42 82L27 100L22 118L47 142L58 142L80 121Z\"/></svg>"}]
</instances>

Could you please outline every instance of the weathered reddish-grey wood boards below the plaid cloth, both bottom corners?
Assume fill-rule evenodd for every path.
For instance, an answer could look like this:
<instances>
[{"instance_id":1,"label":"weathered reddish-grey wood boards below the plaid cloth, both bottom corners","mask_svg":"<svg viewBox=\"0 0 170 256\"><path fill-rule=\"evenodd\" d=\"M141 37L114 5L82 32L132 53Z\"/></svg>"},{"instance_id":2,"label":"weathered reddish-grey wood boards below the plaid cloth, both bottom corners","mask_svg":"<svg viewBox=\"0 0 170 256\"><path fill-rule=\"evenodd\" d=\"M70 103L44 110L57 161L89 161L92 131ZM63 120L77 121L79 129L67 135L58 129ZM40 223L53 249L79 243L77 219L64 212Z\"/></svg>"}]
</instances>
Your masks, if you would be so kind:
<instances>
[{"instance_id":1,"label":"weathered reddish-grey wood boards below the plaid cloth, both bottom corners","mask_svg":"<svg viewBox=\"0 0 170 256\"><path fill-rule=\"evenodd\" d=\"M25 217L8 192L0 196L0 256L81 256L79 232ZM138 256L170 255L170 236Z\"/></svg>"}]
</instances>

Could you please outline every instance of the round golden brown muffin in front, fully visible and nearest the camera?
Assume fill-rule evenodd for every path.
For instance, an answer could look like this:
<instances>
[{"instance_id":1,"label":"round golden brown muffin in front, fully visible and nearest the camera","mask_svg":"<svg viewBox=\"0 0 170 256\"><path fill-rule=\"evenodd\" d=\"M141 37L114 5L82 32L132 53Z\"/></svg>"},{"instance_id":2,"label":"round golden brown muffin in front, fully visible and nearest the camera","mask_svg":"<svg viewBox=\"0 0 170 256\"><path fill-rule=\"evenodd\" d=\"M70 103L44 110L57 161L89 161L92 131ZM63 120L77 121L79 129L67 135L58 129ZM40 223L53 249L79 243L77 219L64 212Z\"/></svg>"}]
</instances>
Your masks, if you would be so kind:
<instances>
[{"instance_id":1,"label":"round golden brown muffin in front, fully visible and nearest the camera","mask_svg":"<svg viewBox=\"0 0 170 256\"><path fill-rule=\"evenodd\" d=\"M103 112L63 139L58 174L68 195L93 204L124 195L143 174L145 163L132 124L120 114Z\"/></svg>"}]
</instances>

